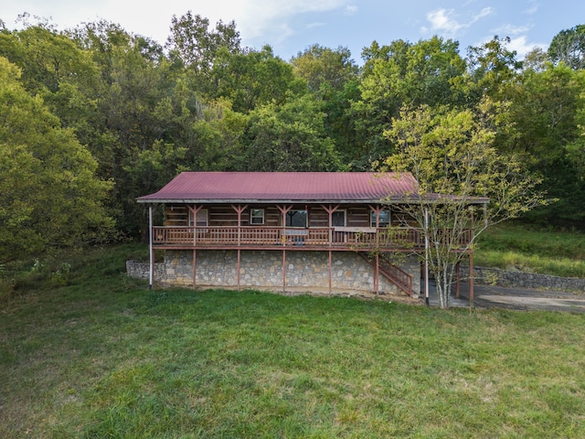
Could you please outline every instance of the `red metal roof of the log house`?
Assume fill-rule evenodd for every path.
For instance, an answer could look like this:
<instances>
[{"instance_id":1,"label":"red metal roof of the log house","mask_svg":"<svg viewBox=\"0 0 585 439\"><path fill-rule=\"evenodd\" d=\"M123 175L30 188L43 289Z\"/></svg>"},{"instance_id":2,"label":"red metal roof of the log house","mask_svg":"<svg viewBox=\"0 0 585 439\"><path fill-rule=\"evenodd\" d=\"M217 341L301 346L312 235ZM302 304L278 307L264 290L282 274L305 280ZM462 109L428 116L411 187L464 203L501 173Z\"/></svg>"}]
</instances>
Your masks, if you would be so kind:
<instances>
[{"instance_id":1,"label":"red metal roof of the log house","mask_svg":"<svg viewBox=\"0 0 585 439\"><path fill-rule=\"evenodd\" d=\"M378 202L416 193L410 173L183 172L139 203L168 202Z\"/></svg>"}]
</instances>

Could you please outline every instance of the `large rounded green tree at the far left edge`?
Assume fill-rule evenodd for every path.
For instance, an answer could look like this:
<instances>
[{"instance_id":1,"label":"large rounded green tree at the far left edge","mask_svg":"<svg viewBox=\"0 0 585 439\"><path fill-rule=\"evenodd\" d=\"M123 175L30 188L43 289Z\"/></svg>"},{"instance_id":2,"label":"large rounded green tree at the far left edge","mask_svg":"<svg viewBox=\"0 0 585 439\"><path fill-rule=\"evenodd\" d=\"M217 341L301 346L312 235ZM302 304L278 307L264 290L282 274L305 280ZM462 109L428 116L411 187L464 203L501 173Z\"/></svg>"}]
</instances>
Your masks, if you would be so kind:
<instances>
[{"instance_id":1,"label":"large rounded green tree at the far left edge","mask_svg":"<svg viewBox=\"0 0 585 439\"><path fill-rule=\"evenodd\" d=\"M113 222L90 153L0 57L0 263L101 239Z\"/></svg>"}]
</instances>

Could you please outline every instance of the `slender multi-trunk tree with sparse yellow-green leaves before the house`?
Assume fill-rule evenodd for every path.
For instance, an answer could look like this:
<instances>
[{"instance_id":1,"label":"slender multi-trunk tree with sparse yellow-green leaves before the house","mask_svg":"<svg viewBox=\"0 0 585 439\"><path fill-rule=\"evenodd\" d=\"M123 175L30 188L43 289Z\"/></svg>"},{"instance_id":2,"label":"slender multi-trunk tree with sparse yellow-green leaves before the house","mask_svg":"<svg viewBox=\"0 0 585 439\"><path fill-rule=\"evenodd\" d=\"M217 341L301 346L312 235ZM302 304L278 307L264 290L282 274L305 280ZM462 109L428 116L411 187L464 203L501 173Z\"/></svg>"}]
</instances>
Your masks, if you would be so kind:
<instances>
[{"instance_id":1,"label":"slender multi-trunk tree with sparse yellow-green leaves before the house","mask_svg":"<svg viewBox=\"0 0 585 439\"><path fill-rule=\"evenodd\" d=\"M410 203L392 205L416 219L427 260L434 274L441 308L449 307L455 264L473 251L477 237L489 226L515 218L543 202L537 180L512 155L500 155L493 142L494 104L484 100L476 112L421 106L403 109L385 132L397 145L382 168L410 172L419 182ZM485 208L478 208L489 198ZM408 223L405 227L410 227Z\"/></svg>"}]
</instances>

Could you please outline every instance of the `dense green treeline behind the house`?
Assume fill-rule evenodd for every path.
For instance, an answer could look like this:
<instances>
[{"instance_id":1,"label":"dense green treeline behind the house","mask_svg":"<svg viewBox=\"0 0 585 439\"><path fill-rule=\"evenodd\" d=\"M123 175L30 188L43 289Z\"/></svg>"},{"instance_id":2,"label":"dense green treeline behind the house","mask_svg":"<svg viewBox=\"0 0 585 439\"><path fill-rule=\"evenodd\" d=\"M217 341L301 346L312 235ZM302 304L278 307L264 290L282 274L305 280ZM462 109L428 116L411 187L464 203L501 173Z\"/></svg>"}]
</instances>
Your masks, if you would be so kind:
<instances>
[{"instance_id":1,"label":"dense green treeline behind the house","mask_svg":"<svg viewBox=\"0 0 585 439\"><path fill-rule=\"evenodd\" d=\"M0 112L4 248L14 230L42 230L34 207L45 189L66 194L45 197L55 198L41 203L47 215L75 212L63 216L61 235L135 235L144 212L134 198L181 170L369 170L395 151L385 133L405 109L473 110L486 98L499 151L521 155L558 198L527 219L585 224L585 27L560 31L548 52L522 62L498 37L464 55L456 41L432 37L374 41L361 67L341 47L315 44L289 61L270 46L244 48L234 22L211 27L190 12L173 18L165 46L106 21L0 27L0 106L12 109ZM53 150L39 149L48 131L67 140L46 136ZM27 167L49 155L54 166Z\"/></svg>"}]
</instances>

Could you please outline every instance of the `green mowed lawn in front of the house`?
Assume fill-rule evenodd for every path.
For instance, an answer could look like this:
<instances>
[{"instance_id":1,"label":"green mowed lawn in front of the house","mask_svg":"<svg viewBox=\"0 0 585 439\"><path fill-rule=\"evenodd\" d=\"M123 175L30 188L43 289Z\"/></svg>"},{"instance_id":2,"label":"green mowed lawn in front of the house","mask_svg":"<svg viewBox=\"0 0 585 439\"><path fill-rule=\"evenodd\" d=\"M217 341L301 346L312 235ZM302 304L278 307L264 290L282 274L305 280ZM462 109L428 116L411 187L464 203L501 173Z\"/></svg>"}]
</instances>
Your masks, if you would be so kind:
<instances>
[{"instance_id":1,"label":"green mowed lawn in front of the house","mask_svg":"<svg viewBox=\"0 0 585 439\"><path fill-rule=\"evenodd\" d=\"M585 437L585 315L150 292L139 252L0 302L0 437Z\"/></svg>"}]
</instances>

